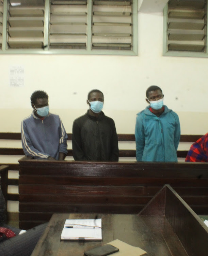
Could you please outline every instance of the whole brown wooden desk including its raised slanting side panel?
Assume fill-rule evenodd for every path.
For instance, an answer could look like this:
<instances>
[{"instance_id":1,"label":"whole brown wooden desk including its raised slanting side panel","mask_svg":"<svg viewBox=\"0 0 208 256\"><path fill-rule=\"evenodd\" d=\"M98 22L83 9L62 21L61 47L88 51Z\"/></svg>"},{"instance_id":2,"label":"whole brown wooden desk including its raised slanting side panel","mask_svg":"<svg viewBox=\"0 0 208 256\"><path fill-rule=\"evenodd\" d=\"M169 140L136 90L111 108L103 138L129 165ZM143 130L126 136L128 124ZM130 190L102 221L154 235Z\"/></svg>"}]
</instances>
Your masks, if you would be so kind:
<instances>
[{"instance_id":1,"label":"whole brown wooden desk including its raised slanting side panel","mask_svg":"<svg viewBox=\"0 0 208 256\"><path fill-rule=\"evenodd\" d=\"M102 218L102 241L60 241L65 219ZM94 246L119 239L148 256L207 256L208 228L165 185L137 214L53 214L31 256L83 256Z\"/></svg>"}]
</instances>

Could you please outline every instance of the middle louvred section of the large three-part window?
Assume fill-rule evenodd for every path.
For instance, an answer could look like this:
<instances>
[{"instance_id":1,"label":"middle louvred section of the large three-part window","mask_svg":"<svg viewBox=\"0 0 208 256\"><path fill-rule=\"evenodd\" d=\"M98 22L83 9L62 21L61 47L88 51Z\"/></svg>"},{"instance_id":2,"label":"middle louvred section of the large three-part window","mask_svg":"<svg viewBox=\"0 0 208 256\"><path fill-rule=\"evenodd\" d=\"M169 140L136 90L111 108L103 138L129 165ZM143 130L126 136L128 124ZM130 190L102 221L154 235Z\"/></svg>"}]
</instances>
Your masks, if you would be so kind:
<instances>
[{"instance_id":1,"label":"middle louvred section of the large three-part window","mask_svg":"<svg viewBox=\"0 0 208 256\"><path fill-rule=\"evenodd\" d=\"M50 48L86 49L87 1L50 3Z\"/></svg>"}]
</instances>

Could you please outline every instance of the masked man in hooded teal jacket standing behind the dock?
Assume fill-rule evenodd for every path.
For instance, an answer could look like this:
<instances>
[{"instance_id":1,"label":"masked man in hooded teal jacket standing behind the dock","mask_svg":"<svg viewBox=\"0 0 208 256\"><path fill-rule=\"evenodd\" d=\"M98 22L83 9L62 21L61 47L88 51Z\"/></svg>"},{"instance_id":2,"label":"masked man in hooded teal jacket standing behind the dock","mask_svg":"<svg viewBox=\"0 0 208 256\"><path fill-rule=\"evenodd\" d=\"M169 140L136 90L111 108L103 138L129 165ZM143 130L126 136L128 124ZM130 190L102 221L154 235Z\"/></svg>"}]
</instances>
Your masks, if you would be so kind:
<instances>
[{"instance_id":1,"label":"masked man in hooded teal jacket standing behind the dock","mask_svg":"<svg viewBox=\"0 0 208 256\"><path fill-rule=\"evenodd\" d=\"M177 162L178 115L163 105L160 87L150 86L146 97L150 105L137 114L135 126L137 161Z\"/></svg>"}]
</instances>

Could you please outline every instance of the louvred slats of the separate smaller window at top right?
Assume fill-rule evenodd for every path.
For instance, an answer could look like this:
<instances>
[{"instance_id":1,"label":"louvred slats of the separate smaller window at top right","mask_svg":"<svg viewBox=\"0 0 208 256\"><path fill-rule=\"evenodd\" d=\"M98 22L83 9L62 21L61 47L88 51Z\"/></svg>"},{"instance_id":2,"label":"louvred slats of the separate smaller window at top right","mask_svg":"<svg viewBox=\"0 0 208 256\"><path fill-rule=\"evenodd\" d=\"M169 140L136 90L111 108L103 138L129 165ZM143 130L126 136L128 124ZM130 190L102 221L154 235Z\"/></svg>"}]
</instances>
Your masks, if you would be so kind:
<instances>
[{"instance_id":1,"label":"louvred slats of the separate smaller window at top right","mask_svg":"<svg viewBox=\"0 0 208 256\"><path fill-rule=\"evenodd\" d=\"M207 51L207 1L170 0L167 11L167 51Z\"/></svg>"}]
</instances>

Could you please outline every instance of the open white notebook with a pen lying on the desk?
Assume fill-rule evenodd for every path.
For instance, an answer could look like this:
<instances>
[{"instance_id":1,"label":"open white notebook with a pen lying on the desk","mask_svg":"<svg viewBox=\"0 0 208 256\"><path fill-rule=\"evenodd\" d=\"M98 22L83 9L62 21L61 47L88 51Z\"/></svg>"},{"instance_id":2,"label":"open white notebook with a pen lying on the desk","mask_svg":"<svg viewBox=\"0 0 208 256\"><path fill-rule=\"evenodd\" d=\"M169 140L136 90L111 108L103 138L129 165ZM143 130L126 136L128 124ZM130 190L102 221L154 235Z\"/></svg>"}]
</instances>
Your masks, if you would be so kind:
<instances>
[{"instance_id":1,"label":"open white notebook with a pen lying on the desk","mask_svg":"<svg viewBox=\"0 0 208 256\"><path fill-rule=\"evenodd\" d=\"M66 219L61 240L102 240L101 219Z\"/></svg>"}]
</instances>

